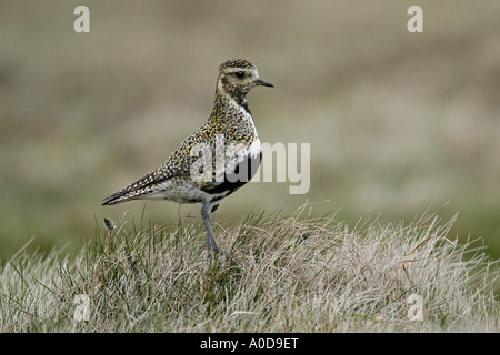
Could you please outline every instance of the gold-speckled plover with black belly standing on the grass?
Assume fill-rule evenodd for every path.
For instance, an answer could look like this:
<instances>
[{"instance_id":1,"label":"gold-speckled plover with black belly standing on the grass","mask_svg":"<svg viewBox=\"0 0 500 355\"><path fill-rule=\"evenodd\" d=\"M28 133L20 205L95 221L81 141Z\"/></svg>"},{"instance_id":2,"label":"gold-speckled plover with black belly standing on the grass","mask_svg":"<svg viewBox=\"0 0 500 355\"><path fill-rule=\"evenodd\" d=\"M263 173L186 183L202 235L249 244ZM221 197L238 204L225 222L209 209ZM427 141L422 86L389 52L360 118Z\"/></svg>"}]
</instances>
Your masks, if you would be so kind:
<instances>
[{"instance_id":1,"label":"gold-speckled plover with black belly standing on the grass","mask_svg":"<svg viewBox=\"0 0 500 355\"><path fill-rule=\"evenodd\" d=\"M246 59L219 65L213 110L156 170L101 201L113 205L131 200L167 200L201 204L208 257L228 255L217 244L210 214L256 174L262 159L247 94L254 87L274 85L259 77ZM200 156L201 155L201 156Z\"/></svg>"}]
</instances>

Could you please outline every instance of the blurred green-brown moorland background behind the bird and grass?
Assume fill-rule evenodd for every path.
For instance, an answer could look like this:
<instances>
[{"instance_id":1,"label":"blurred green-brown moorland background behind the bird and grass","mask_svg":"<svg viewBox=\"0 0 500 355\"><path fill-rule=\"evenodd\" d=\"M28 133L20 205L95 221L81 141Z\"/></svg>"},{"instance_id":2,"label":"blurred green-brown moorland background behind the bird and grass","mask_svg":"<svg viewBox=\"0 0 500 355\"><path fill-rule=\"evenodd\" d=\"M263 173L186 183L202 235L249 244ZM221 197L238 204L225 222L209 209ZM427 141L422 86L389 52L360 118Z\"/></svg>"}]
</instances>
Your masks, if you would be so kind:
<instances>
[{"instance_id":1,"label":"blurred green-brown moorland background behind the bird and grass","mask_svg":"<svg viewBox=\"0 0 500 355\"><path fill-rule=\"evenodd\" d=\"M90 9L76 33L73 9ZM423 33L407 10L423 8ZM500 256L500 1L0 1L0 257L81 245L96 220L177 223L174 203L99 201L211 111L218 65L252 60L263 142L311 143L311 186L252 183L213 220L307 200L337 220L414 221ZM198 217L199 207L183 205ZM130 224L131 225L131 222Z\"/></svg>"}]
</instances>

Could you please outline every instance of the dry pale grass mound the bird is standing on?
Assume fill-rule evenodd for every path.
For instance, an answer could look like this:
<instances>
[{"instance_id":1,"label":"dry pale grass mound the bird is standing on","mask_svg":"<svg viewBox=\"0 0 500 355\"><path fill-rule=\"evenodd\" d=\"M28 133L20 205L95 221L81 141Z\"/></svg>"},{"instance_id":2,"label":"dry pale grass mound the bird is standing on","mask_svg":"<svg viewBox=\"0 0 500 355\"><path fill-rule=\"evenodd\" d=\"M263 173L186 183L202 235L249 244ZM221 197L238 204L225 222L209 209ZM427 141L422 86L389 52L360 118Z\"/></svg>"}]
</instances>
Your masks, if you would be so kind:
<instances>
[{"instance_id":1,"label":"dry pale grass mound the bird is standing on","mask_svg":"<svg viewBox=\"0 0 500 355\"><path fill-rule=\"evenodd\" d=\"M21 250L0 268L0 332L498 331L497 263L450 240L454 219L351 229L311 209L217 225L232 252L213 261L191 219L123 215L71 255ZM79 295L88 321L74 318Z\"/></svg>"}]
</instances>

